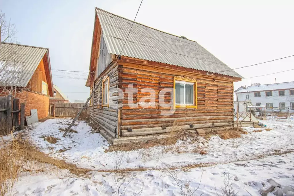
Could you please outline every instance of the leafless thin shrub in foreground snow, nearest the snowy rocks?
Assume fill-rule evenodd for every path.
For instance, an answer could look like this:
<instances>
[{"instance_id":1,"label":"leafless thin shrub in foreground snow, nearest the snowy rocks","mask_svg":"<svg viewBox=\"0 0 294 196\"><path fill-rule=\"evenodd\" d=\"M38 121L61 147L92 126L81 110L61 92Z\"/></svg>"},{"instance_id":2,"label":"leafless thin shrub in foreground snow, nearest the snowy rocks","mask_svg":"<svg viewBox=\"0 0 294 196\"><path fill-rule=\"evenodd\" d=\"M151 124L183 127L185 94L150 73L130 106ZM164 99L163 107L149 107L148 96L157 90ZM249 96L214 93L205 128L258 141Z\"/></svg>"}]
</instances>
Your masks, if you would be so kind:
<instances>
[{"instance_id":1,"label":"leafless thin shrub in foreground snow, nearest the snowy rocks","mask_svg":"<svg viewBox=\"0 0 294 196\"><path fill-rule=\"evenodd\" d=\"M229 166L227 171L223 171L223 183L224 186L220 187L220 192L223 196L237 196L236 188L234 188L233 177L229 173ZM216 190L216 188L215 188ZM218 193L216 192L218 195Z\"/></svg>"}]
</instances>

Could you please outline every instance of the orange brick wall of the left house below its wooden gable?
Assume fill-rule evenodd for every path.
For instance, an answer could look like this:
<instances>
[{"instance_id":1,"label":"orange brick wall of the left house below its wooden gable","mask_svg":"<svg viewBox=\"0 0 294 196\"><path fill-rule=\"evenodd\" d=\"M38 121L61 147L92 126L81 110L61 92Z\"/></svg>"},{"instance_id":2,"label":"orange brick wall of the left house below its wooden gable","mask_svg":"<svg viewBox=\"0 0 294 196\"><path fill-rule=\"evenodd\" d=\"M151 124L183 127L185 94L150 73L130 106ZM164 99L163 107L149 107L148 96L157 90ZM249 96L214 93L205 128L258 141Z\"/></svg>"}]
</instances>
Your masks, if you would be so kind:
<instances>
[{"instance_id":1,"label":"orange brick wall of the left house below its wooden gable","mask_svg":"<svg viewBox=\"0 0 294 196\"><path fill-rule=\"evenodd\" d=\"M19 98L19 103L26 104L25 115L31 115L31 109L37 109L38 118L45 118L49 112L49 96L33 93L30 91L22 91L17 93L16 97Z\"/></svg>"}]
</instances>

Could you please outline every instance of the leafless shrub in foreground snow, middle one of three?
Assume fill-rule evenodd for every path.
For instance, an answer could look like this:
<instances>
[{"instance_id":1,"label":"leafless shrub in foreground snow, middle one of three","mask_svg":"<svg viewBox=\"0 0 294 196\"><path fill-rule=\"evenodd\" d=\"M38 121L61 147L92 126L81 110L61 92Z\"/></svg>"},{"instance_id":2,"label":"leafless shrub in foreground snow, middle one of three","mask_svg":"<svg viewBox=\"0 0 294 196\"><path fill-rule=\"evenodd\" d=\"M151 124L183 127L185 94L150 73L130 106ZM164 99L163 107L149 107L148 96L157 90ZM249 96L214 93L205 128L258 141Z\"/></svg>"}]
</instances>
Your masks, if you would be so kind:
<instances>
[{"instance_id":1,"label":"leafless shrub in foreground snow, middle one of three","mask_svg":"<svg viewBox=\"0 0 294 196\"><path fill-rule=\"evenodd\" d=\"M184 195L184 196L196 195L196 190L198 190L198 188L201 184L203 171L200 176L200 182L199 182L198 187L191 187L191 185L190 185L191 180L184 181L184 180L179 179L178 172L175 170L166 170L165 172L167 173L167 176L171 177L176 182L176 186L178 186L180 188L181 195Z\"/></svg>"}]
</instances>

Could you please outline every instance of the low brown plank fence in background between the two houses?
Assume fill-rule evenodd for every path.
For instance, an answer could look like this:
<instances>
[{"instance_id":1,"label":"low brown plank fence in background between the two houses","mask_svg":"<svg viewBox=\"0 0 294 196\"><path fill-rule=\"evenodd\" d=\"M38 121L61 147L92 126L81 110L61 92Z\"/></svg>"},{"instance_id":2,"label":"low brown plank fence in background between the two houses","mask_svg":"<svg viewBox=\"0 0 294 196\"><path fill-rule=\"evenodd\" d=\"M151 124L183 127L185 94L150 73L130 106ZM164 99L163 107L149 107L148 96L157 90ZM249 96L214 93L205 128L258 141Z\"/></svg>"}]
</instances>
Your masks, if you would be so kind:
<instances>
[{"instance_id":1,"label":"low brown plank fence in background between the two houses","mask_svg":"<svg viewBox=\"0 0 294 196\"><path fill-rule=\"evenodd\" d=\"M54 103L49 106L50 116L75 116L84 103ZM81 115L88 115L88 107L86 107Z\"/></svg>"}]
</instances>

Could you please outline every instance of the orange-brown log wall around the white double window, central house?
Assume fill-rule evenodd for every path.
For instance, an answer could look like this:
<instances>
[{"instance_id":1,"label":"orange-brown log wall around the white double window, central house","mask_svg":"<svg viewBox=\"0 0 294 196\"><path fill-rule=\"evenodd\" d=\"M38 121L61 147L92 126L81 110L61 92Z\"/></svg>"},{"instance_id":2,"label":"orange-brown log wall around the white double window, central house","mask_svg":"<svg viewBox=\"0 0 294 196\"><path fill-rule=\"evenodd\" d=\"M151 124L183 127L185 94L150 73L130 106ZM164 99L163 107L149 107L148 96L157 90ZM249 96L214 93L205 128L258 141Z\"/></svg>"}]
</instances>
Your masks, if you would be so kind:
<instances>
[{"instance_id":1,"label":"orange-brown log wall around the white double window, central house","mask_svg":"<svg viewBox=\"0 0 294 196\"><path fill-rule=\"evenodd\" d=\"M129 107L127 95L124 96L121 100L123 103L120 126L122 137L151 134L153 132L147 131L148 128L169 127L174 123L176 125L233 123L233 81L121 61L119 64L118 87L125 92L128 85L133 84L133 88L138 90L133 94L133 103L139 103L142 97L148 96L141 91L142 88L152 88L156 92L155 106L139 105L135 109ZM159 105L159 92L163 88L173 88L174 76L197 78L198 108L176 108L172 115L161 115L162 111L170 110L171 105ZM163 97L167 102L172 100L172 89ZM128 128L137 130L127 132Z\"/></svg>"}]
</instances>

